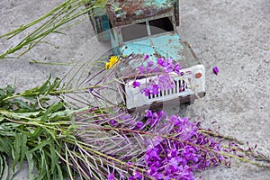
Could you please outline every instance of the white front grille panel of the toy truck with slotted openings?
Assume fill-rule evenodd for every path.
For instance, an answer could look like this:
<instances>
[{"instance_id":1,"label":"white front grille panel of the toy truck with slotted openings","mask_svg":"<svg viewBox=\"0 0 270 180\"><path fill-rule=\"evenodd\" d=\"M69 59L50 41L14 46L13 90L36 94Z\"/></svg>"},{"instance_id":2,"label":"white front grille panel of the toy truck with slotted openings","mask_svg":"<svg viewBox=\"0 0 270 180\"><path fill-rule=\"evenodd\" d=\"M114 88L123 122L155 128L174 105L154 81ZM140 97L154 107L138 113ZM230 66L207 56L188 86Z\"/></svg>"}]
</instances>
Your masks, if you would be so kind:
<instances>
[{"instance_id":1,"label":"white front grille panel of the toy truck with slotted openings","mask_svg":"<svg viewBox=\"0 0 270 180\"><path fill-rule=\"evenodd\" d=\"M195 76L197 73L201 74L198 78ZM183 76L177 76L176 74L171 74L171 76L175 81L175 86L173 88L159 90L158 94L150 94L148 96L142 93L142 89L147 87L151 81L151 77L137 79L140 83L140 89L138 87L133 88L132 80L127 82L124 87L127 108L130 109L143 105L150 105L152 103L166 102L179 97L186 97L205 92L205 69L202 65L183 69ZM155 79L155 76L153 76L152 79Z\"/></svg>"}]
</instances>

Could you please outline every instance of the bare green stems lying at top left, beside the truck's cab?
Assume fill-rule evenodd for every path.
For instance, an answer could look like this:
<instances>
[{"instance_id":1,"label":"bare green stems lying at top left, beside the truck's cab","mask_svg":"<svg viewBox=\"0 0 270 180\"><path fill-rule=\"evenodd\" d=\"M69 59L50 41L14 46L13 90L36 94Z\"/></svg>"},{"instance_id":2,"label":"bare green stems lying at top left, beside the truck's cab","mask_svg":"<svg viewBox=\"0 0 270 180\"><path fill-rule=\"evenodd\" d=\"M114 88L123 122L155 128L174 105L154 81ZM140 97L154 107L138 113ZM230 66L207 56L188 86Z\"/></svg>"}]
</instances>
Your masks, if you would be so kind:
<instances>
[{"instance_id":1,"label":"bare green stems lying at top left, beside the truck's cab","mask_svg":"<svg viewBox=\"0 0 270 180\"><path fill-rule=\"evenodd\" d=\"M50 11L48 14L43 15L42 17L33 21L32 23L28 23L27 25L21 26L17 30L14 30L14 31L11 31L11 32L4 34L0 38L5 37L5 36L10 36L8 38L8 39L10 39L10 38L14 37L15 35L17 35L18 33L31 27L32 25L34 25L36 23L40 23L41 21L45 20L49 16L53 15L49 19L49 21L47 21L46 23L43 23L38 29L31 32L31 34L26 36L14 48L8 49L4 53L0 54L0 59L5 58L8 54L12 54L15 51L17 51L19 49L23 49L23 47L29 45L29 48L23 52L23 54L26 53L27 51L32 49L38 42L40 42L40 40L42 40L43 38L48 36L49 33L58 32L57 29L60 26L63 26L64 24L69 23L72 20L75 20L76 18L80 17L83 14L86 14L87 12L90 11L90 9L93 9L94 7L95 8L98 7L98 5L97 6L93 5L93 6L84 8L81 11L77 11L81 6L84 6L85 3L86 3L86 1L83 1L83 0L81 0L81 1L67 0L65 3L58 5L58 7L56 7L52 11ZM99 4L99 5L102 6L103 4ZM81 22L81 21L79 21L79 22ZM77 23L74 23L74 24L77 24ZM64 28L61 28L60 30L65 29L67 27L70 27L70 25L67 25ZM36 41L36 42L34 42L34 41Z\"/></svg>"}]
</instances>

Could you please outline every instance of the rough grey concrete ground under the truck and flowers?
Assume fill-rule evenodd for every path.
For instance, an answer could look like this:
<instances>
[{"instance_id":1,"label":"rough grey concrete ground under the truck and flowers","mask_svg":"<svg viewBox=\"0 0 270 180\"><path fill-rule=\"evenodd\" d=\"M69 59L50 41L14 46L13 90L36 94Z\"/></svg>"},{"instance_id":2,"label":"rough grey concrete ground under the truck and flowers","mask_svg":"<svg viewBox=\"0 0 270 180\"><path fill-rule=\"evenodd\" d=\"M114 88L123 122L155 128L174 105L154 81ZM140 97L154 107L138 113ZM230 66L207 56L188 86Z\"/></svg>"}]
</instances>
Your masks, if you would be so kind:
<instances>
[{"instance_id":1,"label":"rough grey concrete ground under the truck and flowers","mask_svg":"<svg viewBox=\"0 0 270 180\"><path fill-rule=\"evenodd\" d=\"M31 22L60 2L0 1L0 34ZM181 106L180 113L200 117L205 127L217 121L215 127L220 126L222 134L257 144L270 156L270 1L182 0L180 9L178 31L202 60L207 75L206 96ZM88 21L64 32L46 39L59 49L40 44L22 58L1 60L0 85L13 84L14 78L18 92L40 85L49 73L63 76L68 67L30 65L30 60L87 59L103 46L93 45L96 40ZM0 40L1 52L18 40ZM218 76L211 71L214 66L220 68ZM236 162L231 168L212 167L197 175L203 180L269 180L270 170ZM27 166L14 179L27 179Z\"/></svg>"}]
</instances>

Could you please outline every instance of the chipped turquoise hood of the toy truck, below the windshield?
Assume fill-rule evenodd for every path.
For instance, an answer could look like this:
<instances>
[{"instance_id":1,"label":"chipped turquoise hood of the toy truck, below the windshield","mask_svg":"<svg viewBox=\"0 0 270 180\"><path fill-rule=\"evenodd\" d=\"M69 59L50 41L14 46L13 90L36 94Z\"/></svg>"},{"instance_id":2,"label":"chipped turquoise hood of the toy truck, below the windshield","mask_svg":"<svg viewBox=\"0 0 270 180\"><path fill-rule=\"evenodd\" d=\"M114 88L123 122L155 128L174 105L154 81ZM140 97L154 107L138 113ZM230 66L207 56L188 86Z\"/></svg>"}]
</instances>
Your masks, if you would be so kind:
<instances>
[{"instance_id":1,"label":"chipped turquoise hood of the toy truck, below the windshield","mask_svg":"<svg viewBox=\"0 0 270 180\"><path fill-rule=\"evenodd\" d=\"M176 32L167 32L161 36L148 37L148 39L130 41L121 46L123 56L136 56L121 63L120 74L123 69L130 67L137 69L139 66L147 67L148 61L157 63L157 58L173 58L180 66L192 67L200 64L190 46L180 39ZM149 55L147 60L143 57ZM139 58L140 57L140 58ZM141 64L142 63L142 64ZM125 76L124 72L121 76Z\"/></svg>"}]
</instances>

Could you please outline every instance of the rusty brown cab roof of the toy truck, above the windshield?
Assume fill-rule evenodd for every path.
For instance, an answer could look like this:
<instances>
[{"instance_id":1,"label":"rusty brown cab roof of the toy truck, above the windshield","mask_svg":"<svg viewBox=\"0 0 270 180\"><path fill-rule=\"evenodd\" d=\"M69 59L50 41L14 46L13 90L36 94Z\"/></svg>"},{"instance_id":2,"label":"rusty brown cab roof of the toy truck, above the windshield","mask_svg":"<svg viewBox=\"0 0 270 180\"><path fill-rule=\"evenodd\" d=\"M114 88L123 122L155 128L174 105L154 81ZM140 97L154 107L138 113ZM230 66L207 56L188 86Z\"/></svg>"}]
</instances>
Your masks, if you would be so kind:
<instances>
[{"instance_id":1,"label":"rusty brown cab roof of the toy truck, above the windshield","mask_svg":"<svg viewBox=\"0 0 270 180\"><path fill-rule=\"evenodd\" d=\"M178 0L111 0L106 6L112 27L140 23L159 14L175 14L179 23Z\"/></svg>"}]
</instances>

